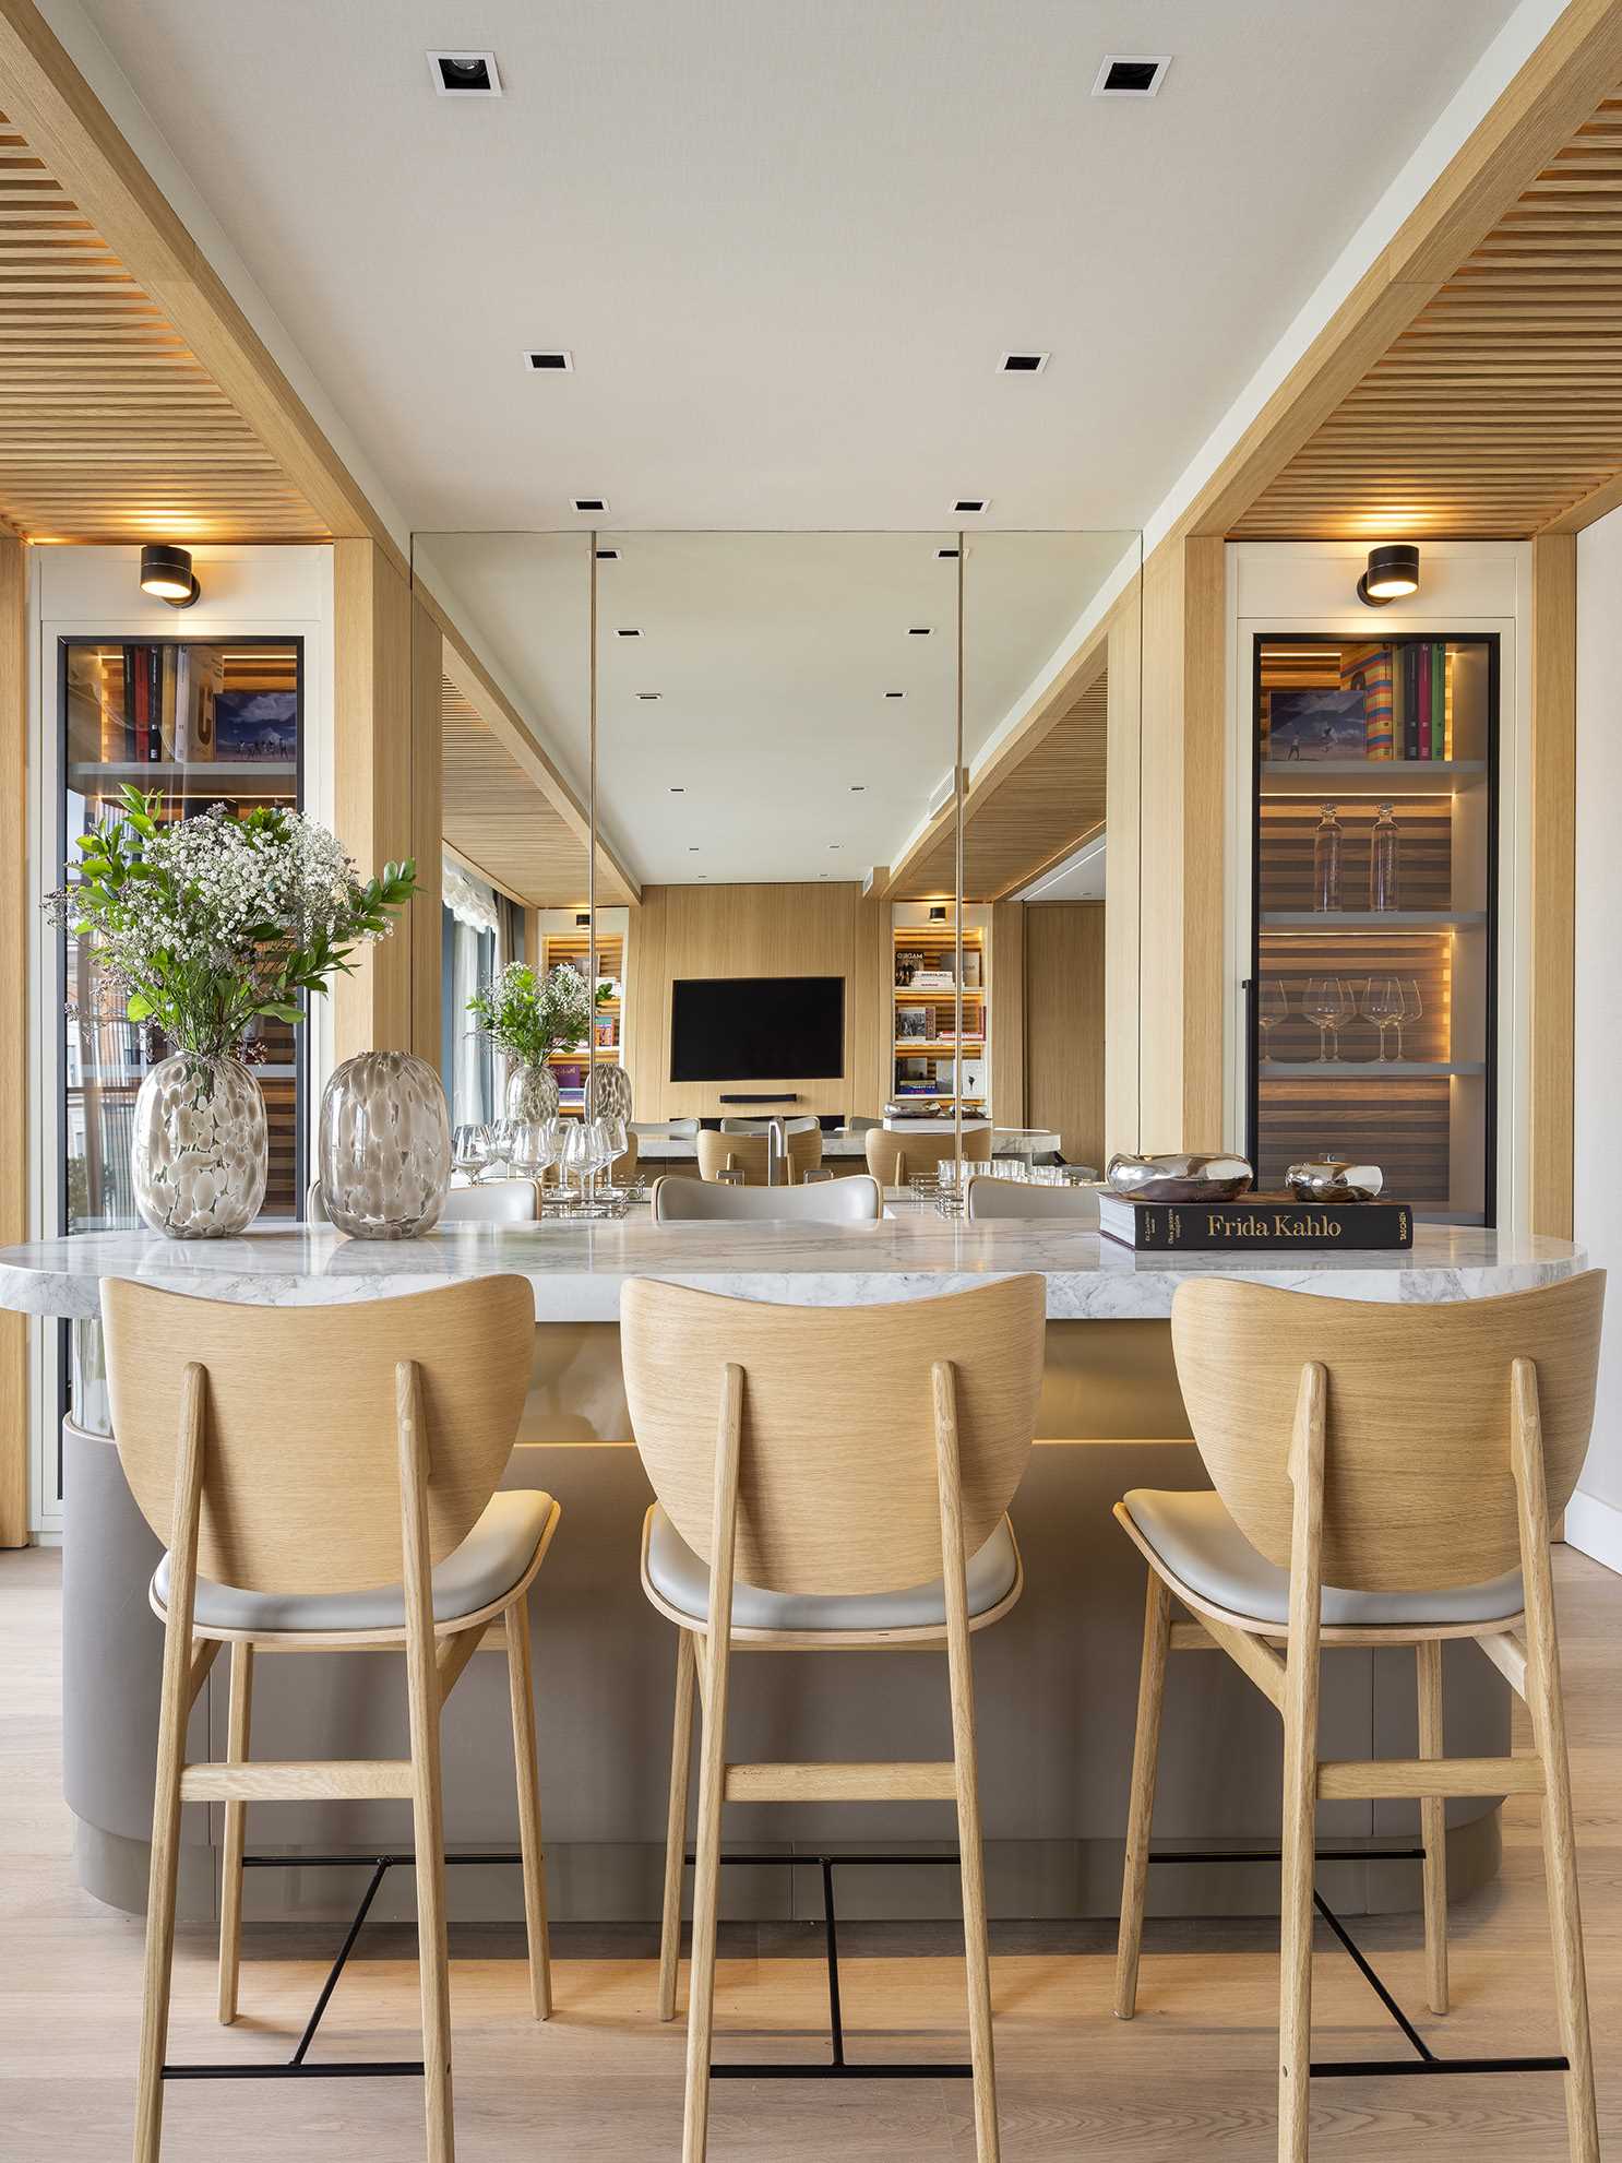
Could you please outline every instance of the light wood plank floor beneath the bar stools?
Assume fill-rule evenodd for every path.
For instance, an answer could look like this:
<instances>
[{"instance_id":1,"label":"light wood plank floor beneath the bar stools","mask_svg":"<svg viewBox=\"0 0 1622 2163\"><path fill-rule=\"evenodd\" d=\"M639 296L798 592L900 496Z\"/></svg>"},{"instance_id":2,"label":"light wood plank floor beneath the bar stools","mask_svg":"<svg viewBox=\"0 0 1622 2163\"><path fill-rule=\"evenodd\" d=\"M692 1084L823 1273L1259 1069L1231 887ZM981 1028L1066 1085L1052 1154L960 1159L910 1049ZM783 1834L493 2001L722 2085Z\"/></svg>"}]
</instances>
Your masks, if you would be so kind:
<instances>
[{"instance_id":1,"label":"light wood plank floor beneath the bar stools","mask_svg":"<svg viewBox=\"0 0 1622 2163\"><path fill-rule=\"evenodd\" d=\"M74 1884L58 1778L58 1560L0 1555L0 2154L6 2163L119 2163L128 2154L141 1927ZM1557 1553L1587 1923L1600 2128L1622 2159L1622 1579ZM545 1778L545 1767L543 1767ZM1455 2012L1421 2018L1436 2048L1557 2048L1542 1862L1529 1800L1505 1806L1499 1884L1453 1910ZM1423 2007L1417 1921L1358 1925L1382 1973ZM1276 1932L1151 1923L1142 2012L1109 2018L1107 1932L1014 1929L993 1940L1003 2154L1129 2163L1269 2163L1274 2157ZM458 1953L461 2163L679 2154L681 2027L653 2016L647 1934L558 1932L556 2018L536 2029L519 1938L452 1934ZM1112 1942L1112 1940L1109 1940ZM303 1951L303 1947L301 1947ZM327 2016L329 2057L413 2057L409 1938L383 1936ZM716 1996L718 2055L820 2055L826 2014L815 1940L733 1934ZM962 1968L945 1936L841 1929L850 2055L958 2057ZM184 1934L171 2055L285 2057L324 1960L249 1942L244 2020L214 2025L212 1945ZM1317 2048L1393 2055L1395 2038L1347 1960L1321 1945ZM865 2033L863 2033L865 2031ZM188 2083L167 2098L169 2163L415 2163L415 2081ZM869 2163L971 2157L967 2083L720 2083L716 2163ZM1557 2076L1317 2083L1313 2157L1358 2163L1557 2163Z\"/></svg>"}]
</instances>

